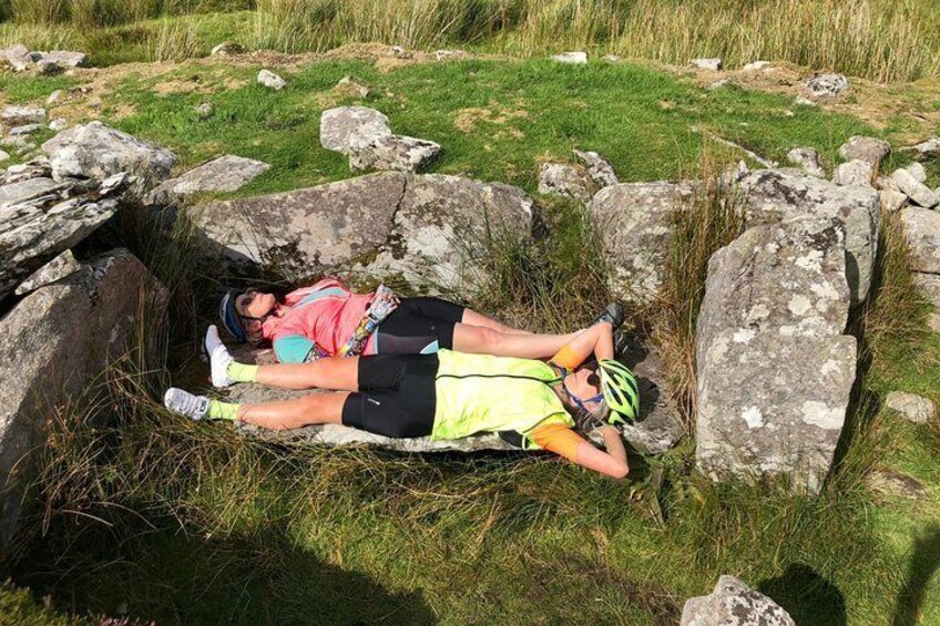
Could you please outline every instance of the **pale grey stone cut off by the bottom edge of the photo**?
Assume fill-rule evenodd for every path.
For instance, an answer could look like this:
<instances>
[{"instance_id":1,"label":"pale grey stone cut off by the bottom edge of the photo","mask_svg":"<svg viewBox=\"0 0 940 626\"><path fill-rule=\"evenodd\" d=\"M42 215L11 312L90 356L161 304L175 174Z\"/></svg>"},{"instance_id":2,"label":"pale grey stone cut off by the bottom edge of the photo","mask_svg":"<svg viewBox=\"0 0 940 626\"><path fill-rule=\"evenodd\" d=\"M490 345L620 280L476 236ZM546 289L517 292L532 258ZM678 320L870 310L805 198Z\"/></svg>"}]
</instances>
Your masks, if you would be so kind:
<instances>
[{"instance_id":1,"label":"pale grey stone cut off by the bottom edge of the photo","mask_svg":"<svg viewBox=\"0 0 940 626\"><path fill-rule=\"evenodd\" d=\"M722 576L711 595L685 601L680 626L796 626L773 599L734 576Z\"/></svg>"}]
</instances>

